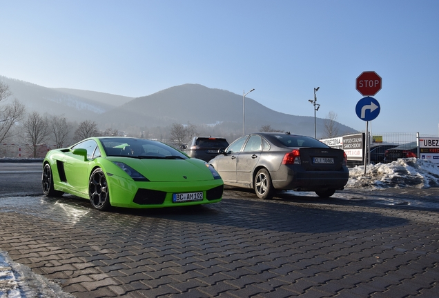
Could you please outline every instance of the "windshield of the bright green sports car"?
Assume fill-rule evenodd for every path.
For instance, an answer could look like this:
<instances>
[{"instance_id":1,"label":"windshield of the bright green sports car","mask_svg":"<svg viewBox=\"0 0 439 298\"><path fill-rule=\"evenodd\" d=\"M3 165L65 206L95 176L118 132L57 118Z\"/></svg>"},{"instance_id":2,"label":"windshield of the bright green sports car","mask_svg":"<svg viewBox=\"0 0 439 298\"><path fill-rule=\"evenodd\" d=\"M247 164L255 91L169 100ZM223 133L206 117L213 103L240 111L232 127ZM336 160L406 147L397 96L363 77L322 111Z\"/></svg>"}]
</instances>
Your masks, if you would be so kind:
<instances>
[{"instance_id":1,"label":"windshield of the bright green sports car","mask_svg":"<svg viewBox=\"0 0 439 298\"><path fill-rule=\"evenodd\" d=\"M178 150L150 139L100 138L107 156L134 157L139 159L187 159Z\"/></svg>"}]
</instances>

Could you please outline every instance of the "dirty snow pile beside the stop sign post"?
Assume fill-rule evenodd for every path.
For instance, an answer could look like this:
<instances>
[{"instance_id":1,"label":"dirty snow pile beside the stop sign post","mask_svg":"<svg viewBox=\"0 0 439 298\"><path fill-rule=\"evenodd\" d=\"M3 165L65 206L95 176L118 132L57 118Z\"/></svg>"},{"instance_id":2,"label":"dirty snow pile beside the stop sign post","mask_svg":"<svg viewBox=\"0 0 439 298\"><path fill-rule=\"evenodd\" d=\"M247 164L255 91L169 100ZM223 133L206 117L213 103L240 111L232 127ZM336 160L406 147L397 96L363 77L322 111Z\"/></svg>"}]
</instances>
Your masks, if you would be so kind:
<instances>
[{"instance_id":1,"label":"dirty snow pile beside the stop sign post","mask_svg":"<svg viewBox=\"0 0 439 298\"><path fill-rule=\"evenodd\" d=\"M439 187L439 168L423 159L398 159L391 163L369 165L349 169L347 188L431 188Z\"/></svg>"}]
</instances>

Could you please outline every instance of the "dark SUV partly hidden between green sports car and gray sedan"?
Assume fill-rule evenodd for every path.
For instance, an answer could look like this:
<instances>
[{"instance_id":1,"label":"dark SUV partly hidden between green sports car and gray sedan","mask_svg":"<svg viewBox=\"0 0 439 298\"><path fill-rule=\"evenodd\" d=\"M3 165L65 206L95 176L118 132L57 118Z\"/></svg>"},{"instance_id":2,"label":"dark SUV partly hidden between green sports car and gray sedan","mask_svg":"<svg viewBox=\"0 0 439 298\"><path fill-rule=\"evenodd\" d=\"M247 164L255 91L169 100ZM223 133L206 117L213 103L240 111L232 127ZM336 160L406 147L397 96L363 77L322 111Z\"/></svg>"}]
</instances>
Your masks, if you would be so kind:
<instances>
[{"instance_id":1,"label":"dark SUV partly hidden between green sports car and gray sedan","mask_svg":"<svg viewBox=\"0 0 439 298\"><path fill-rule=\"evenodd\" d=\"M228 141L222 137L193 137L188 146L182 146L182 150L189 157L210 161L218 155L220 148L227 146Z\"/></svg>"}]
</instances>

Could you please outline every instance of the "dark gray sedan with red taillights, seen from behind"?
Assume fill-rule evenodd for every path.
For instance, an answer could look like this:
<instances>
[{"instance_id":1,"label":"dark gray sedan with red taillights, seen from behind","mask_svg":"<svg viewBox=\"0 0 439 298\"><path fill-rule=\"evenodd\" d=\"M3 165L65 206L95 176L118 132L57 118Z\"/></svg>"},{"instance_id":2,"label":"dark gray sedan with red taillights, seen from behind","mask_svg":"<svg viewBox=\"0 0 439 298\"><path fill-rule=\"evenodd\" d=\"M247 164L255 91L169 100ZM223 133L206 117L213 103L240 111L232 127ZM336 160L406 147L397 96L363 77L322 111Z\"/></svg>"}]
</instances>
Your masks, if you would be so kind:
<instances>
[{"instance_id":1,"label":"dark gray sedan with red taillights, seen from behind","mask_svg":"<svg viewBox=\"0 0 439 298\"><path fill-rule=\"evenodd\" d=\"M209 161L224 184L254 188L271 199L276 190L313 191L331 197L349 179L347 155L324 143L289 132L258 132L235 140Z\"/></svg>"}]
</instances>

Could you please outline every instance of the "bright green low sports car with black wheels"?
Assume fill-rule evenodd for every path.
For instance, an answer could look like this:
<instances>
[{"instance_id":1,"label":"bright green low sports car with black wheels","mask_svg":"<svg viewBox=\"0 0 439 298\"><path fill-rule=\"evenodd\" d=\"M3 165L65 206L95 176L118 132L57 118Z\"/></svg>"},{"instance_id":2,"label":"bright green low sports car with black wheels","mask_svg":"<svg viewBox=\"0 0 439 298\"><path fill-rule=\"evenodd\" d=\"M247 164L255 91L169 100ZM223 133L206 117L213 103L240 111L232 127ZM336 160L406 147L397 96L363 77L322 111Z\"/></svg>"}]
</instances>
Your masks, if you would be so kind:
<instances>
[{"instance_id":1,"label":"bright green low sports car with black wheels","mask_svg":"<svg viewBox=\"0 0 439 298\"><path fill-rule=\"evenodd\" d=\"M205 161L149 139L91 137L50 150L43 161L43 192L110 206L162 208L221 201L224 183Z\"/></svg>"}]
</instances>

